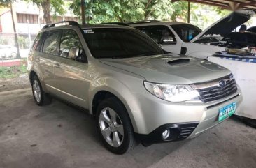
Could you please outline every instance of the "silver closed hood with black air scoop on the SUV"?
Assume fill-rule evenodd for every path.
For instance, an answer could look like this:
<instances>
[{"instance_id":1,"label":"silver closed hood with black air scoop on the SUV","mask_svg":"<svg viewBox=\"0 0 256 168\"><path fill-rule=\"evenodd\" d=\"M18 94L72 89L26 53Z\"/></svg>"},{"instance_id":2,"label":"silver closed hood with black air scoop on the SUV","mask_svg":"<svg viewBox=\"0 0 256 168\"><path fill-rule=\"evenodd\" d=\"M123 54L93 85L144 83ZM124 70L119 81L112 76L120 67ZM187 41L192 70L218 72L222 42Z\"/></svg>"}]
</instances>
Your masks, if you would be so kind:
<instances>
[{"instance_id":1,"label":"silver closed hood with black air scoop on the SUV","mask_svg":"<svg viewBox=\"0 0 256 168\"><path fill-rule=\"evenodd\" d=\"M211 81L230 72L215 63L178 54L143 56L130 59L100 59L101 63L136 75L149 82L193 84Z\"/></svg>"}]
</instances>

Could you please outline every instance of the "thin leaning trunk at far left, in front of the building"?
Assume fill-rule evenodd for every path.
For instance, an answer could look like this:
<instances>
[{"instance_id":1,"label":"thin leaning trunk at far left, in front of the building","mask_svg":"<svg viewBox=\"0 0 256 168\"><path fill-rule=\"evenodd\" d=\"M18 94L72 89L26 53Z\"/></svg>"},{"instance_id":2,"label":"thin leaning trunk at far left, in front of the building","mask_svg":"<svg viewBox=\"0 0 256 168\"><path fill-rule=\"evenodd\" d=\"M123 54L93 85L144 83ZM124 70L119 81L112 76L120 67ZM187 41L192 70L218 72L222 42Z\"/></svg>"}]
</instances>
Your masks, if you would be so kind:
<instances>
[{"instance_id":1,"label":"thin leaning trunk at far left, in front of the building","mask_svg":"<svg viewBox=\"0 0 256 168\"><path fill-rule=\"evenodd\" d=\"M19 47L19 43L17 42L17 33L16 33L16 26L15 26L15 22L14 22L14 17L13 17L13 0L1 0L0 1L0 6L3 7L9 7L10 8L10 15L12 17L12 22L13 22L13 31L14 31L14 38L15 38L15 47L17 48L17 59L20 59L20 47Z\"/></svg>"}]
</instances>

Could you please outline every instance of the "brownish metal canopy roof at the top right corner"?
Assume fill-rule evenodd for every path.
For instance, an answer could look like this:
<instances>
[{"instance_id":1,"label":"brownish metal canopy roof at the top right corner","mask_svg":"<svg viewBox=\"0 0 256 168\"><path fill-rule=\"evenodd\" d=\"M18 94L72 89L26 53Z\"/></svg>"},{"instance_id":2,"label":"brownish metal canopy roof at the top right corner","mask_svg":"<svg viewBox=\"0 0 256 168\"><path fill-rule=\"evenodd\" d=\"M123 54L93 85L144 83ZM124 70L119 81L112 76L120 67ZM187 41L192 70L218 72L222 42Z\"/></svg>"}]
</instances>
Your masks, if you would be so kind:
<instances>
[{"instance_id":1,"label":"brownish metal canopy roof at the top right corner","mask_svg":"<svg viewBox=\"0 0 256 168\"><path fill-rule=\"evenodd\" d=\"M180 0L171 0L172 2ZM219 6L223 9L236 10L239 8L248 8L256 10L256 0L185 0L194 3L203 3L211 6Z\"/></svg>"}]
</instances>

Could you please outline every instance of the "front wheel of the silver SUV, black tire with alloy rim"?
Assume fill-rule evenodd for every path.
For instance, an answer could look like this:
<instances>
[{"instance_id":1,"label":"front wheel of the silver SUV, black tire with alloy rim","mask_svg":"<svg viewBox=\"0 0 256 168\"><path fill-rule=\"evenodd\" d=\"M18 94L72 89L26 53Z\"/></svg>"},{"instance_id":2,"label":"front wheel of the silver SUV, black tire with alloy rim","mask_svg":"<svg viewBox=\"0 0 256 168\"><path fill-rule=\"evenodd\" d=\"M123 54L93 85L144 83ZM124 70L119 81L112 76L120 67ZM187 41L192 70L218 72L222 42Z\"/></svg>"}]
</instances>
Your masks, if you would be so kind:
<instances>
[{"instance_id":1,"label":"front wheel of the silver SUV, black tire with alloy rim","mask_svg":"<svg viewBox=\"0 0 256 168\"><path fill-rule=\"evenodd\" d=\"M97 107L97 128L109 151L123 154L134 146L134 131L127 110L117 98L107 98Z\"/></svg>"}]
</instances>

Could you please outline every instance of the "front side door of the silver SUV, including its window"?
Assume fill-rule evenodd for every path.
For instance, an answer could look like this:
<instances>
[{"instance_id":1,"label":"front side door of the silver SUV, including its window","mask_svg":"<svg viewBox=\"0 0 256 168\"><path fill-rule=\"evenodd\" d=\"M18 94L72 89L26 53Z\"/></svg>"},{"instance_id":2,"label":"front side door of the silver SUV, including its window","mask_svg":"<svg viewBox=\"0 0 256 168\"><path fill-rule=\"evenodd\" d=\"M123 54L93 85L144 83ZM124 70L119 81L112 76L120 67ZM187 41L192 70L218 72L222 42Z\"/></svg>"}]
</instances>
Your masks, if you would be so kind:
<instances>
[{"instance_id":1,"label":"front side door of the silver SUV, including its window","mask_svg":"<svg viewBox=\"0 0 256 168\"><path fill-rule=\"evenodd\" d=\"M85 51L78 34L72 29L63 29L60 38L59 56L55 64L55 82L62 91L62 98L85 107L90 76ZM74 54L75 53L75 54Z\"/></svg>"}]
</instances>

